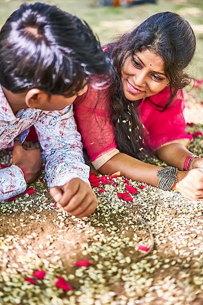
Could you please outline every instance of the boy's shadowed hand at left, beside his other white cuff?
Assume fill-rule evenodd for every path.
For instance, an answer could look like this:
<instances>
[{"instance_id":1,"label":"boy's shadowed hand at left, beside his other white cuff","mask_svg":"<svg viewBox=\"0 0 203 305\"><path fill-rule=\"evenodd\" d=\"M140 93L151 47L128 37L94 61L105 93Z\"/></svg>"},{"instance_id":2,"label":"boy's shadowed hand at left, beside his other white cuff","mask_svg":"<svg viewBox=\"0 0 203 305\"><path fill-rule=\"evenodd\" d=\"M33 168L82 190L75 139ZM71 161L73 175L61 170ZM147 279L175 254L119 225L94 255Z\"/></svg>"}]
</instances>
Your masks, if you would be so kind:
<instances>
[{"instance_id":1,"label":"boy's shadowed hand at left, beside his other white cuff","mask_svg":"<svg viewBox=\"0 0 203 305\"><path fill-rule=\"evenodd\" d=\"M42 169L41 151L36 148L24 149L19 139L16 138L13 146L12 163L25 171L25 181L29 184L38 178Z\"/></svg>"}]
</instances>

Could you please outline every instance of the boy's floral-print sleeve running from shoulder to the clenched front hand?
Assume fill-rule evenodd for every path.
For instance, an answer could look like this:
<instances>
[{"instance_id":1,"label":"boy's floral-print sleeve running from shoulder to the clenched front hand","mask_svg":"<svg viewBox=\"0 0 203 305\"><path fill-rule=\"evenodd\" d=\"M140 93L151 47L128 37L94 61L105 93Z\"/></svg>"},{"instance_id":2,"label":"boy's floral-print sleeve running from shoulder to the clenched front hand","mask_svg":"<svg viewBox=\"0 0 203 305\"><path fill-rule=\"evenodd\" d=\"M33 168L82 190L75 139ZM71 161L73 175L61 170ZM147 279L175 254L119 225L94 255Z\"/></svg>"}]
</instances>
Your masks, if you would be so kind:
<instances>
[{"instance_id":1,"label":"boy's floral-print sleeve running from shoulder to the clenched front hand","mask_svg":"<svg viewBox=\"0 0 203 305\"><path fill-rule=\"evenodd\" d=\"M77 131L73 105L45 113L35 128L46 161L48 186L62 186L73 178L89 183L89 166L84 162L83 145Z\"/></svg>"}]
</instances>

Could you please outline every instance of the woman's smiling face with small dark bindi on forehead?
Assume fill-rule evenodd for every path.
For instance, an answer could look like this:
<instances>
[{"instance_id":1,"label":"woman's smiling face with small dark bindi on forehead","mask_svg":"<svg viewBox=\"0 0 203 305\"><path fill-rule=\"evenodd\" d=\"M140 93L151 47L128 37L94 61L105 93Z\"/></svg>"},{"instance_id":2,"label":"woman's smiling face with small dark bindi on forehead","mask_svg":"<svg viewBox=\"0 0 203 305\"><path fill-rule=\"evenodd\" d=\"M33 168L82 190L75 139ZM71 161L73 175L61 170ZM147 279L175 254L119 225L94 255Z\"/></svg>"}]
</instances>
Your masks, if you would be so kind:
<instances>
[{"instance_id":1,"label":"woman's smiling face with small dark bindi on forehead","mask_svg":"<svg viewBox=\"0 0 203 305\"><path fill-rule=\"evenodd\" d=\"M169 83L162 58L149 50L136 52L125 60L121 79L129 101L153 96Z\"/></svg>"}]
</instances>

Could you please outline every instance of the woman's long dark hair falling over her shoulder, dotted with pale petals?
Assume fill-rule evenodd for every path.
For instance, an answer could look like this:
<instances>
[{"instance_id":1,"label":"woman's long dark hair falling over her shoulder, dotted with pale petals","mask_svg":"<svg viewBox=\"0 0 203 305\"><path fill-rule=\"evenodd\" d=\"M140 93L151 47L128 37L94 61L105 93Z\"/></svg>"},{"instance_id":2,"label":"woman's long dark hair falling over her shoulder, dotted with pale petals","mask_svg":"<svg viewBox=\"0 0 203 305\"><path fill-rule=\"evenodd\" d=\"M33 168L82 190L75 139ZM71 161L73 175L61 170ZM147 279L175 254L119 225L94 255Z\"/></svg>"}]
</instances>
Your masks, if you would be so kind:
<instances>
[{"instance_id":1,"label":"woman's long dark hair falling over her shoulder, dotted with pale petals","mask_svg":"<svg viewBox=\"0 0 203 305\"><path fill-rule=\"evenodd\" d=\"M125 98L121 72L125 60L135 52L150 50L160 55L164 71L170 80L171 96L164 111L171 104L179 89L191 81L185 72L195 52L195 36L187 20L176 13L162 12L145 20L131 32L124 34L117 42L108 45L113 59L114 76L110 87L111 121L115 139L120 152L140 158L145 147L144 129L139 117L139 102L133 103ZM148 98L150 99L150 98Z\"/></svg>"}]
</instances>

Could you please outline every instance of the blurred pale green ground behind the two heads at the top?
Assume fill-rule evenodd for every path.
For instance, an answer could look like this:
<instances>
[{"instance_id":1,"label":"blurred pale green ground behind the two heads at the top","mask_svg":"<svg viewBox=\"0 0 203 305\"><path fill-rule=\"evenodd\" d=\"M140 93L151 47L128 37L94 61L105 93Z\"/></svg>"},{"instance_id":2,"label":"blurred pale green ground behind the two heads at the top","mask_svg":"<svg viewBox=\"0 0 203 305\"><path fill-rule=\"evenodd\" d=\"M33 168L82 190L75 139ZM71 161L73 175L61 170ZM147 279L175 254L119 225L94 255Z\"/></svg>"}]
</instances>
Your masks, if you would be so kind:
<instances>
[{"instance_id":1,"label":"blurred pale green ground behind the two heads at the top","mask_svg":"<svg viewBox=\"0 0 203 305\"><path fill-rule=\"evenodd\" d=\"M0 26L22 3L33 1L0 0ZM192 66L193 77L203 78L203 0L157 0L157 4L134 5L130 8L99 7L97 0L47 0L61 9L86 20L106 44L138 25L147 17L161 11L172 11L184 16L191 24L197 39L197 50ZM180 41L181 43L181 41Z\"/></svg>"}]
</instances>

